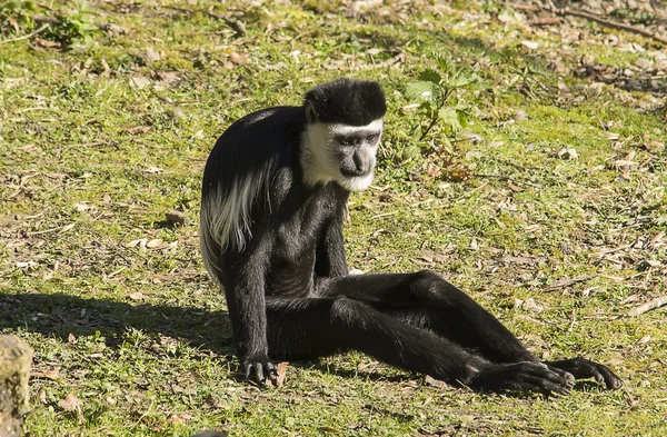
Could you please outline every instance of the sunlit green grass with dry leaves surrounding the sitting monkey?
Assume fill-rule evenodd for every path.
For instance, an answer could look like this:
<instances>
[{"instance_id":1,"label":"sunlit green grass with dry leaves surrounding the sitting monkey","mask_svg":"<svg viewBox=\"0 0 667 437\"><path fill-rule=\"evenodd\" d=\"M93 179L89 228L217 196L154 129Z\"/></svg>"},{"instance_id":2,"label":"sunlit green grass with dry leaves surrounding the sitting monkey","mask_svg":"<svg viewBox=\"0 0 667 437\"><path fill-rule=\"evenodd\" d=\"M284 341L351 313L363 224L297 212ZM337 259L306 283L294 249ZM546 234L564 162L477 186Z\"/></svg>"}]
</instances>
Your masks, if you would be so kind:
<instances>
[{"instance_id":1,"label":"sunlit green grass with dry leaves surrounding the sitting monkey","mask_svg":"<svg viewBox=\"0 0 667 437\"><path fill-rule=\"evenodd\" d=\"M57 3L40 13L73 17ZM0 329L36 349L27 435L664 435L666 310L617 316L665 295L665 78L628 91L575 75L581 52L623 69L627 47L659 48L581 26L566 49L478 6L241 4L96 1L77 17L97 30L41 34L60 48L0 46ZM432 51L479 77L458 93L470 125L414 143L405 89ZM291 364L278 389L240 379L198 255L202 166L235 119L339 76L380 80L389 105L376 185L351 198L350 266L435 269L538 356L608 364L624 389L482 395L360 354ZM166 221L173 209L185 225ZM516 304L528 298L542 309Z\"/></svg>"}]
</instances>

